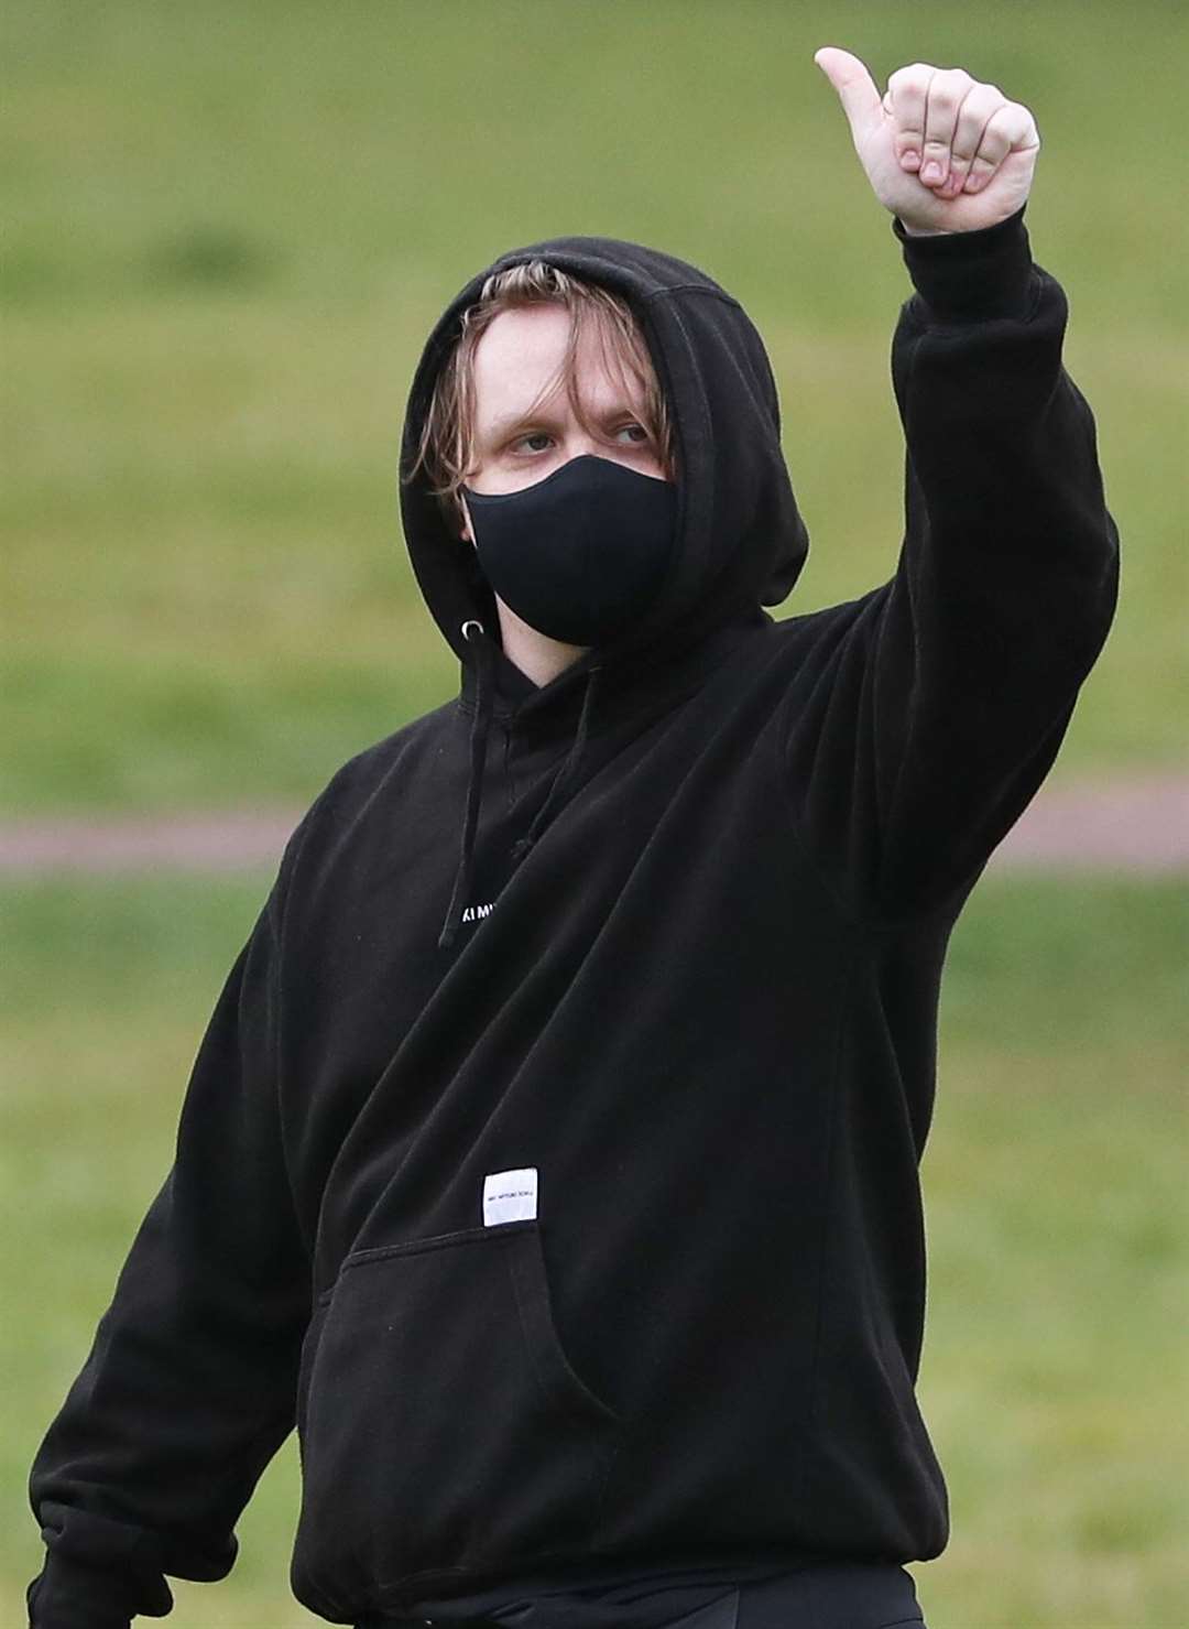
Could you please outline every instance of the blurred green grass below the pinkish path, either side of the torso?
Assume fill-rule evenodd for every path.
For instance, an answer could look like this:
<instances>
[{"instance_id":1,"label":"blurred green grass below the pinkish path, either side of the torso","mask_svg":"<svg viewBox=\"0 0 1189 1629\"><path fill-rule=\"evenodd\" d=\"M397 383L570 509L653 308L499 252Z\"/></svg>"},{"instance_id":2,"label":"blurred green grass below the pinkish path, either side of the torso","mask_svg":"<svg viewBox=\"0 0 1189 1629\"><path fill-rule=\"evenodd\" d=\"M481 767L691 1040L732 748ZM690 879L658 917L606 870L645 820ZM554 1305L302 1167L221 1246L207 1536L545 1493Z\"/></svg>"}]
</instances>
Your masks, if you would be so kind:
<instances>
[{"instance_id":1,"label":"blurred green grass below the pinkish path, either side of the torso","mask_svg":"<svg viewBox=\"0 0 1189 1629\"><path fill-rule=\"evenodd\" d=\"M39 1543L28 1464L171 1158L189 1062L262 894L29 883L3 1072L0 1621ZM1178 1629L1189 1567L1189 1217L1178 1127L1189 888L987 880L954 935L925 1155L925 1416L954 1535L937 1629ZM293 1440L179 1629L313 1624L288 1600Z\"/></svg>"}]
</instances>

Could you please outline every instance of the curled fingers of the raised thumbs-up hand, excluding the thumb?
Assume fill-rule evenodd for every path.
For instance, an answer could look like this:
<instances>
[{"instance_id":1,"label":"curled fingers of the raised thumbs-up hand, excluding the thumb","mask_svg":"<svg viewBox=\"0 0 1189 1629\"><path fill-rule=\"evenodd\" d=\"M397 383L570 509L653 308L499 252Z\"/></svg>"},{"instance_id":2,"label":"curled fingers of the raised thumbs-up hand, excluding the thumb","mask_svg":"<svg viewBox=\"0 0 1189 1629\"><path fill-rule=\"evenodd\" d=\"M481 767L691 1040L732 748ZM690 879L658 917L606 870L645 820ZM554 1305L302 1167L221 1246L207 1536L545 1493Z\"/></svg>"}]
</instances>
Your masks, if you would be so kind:
<instances>
[{"instance_id":1,"label":"curled fingers of the raised thumbs-up hand, excluding the thumb","mask_svg":"<svg viewBox=\"0 0 1189 1629\"><path fill-rule=\"evenodd\" d=\"M881 109L901 166L940 197L977 192L1010 151L1041 145L1031 112L964 68L897 68Z\"/></svg>"}]
</instances>

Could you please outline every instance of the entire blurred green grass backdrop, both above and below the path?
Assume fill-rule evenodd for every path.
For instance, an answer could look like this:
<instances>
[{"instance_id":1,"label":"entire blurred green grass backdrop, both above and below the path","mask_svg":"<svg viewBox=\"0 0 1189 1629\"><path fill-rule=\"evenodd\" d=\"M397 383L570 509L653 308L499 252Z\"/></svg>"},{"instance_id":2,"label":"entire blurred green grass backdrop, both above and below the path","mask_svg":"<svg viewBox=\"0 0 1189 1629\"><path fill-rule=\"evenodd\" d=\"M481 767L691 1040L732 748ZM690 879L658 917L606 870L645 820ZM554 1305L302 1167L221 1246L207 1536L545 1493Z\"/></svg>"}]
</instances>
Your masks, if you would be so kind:
<instances>
[{"instance_id":1,"label":"entire blurred green grass backdrop, both above and below the path","mask_svg":"<svg viewBox=\"0 0 1189 1629\"><path fill-rule=\"evenodd\" d=\"M168 1170L285 824L454 692L401 541L396 448L428 327L497 252L637 238L743 300L813 534L779 614L808 611L894 565L888 350L909 293L813 52L844 46L881 85L912 60L961 65L1026 103L1033 251L1070 298L1067 365L1125 551L1052 788L1184 785L1189 24L1156 0L13 0L3 36L16 1622L41 1565L29 1461ZM67 816L151 836L204 813L267 816L275 852L88 872L70 826L75 868L29 860ZM1166 860L1078 865L1070 839L1072 863L992 865L946 973L920 1393L954 1526L915 1569L941 1629L1171 1629L1189 1598L1189 889ZM295 1499L290 1440L231 1577L178 1585L184 1629L314 1622L288 1596Z\"/></svg>"}]
</instances>

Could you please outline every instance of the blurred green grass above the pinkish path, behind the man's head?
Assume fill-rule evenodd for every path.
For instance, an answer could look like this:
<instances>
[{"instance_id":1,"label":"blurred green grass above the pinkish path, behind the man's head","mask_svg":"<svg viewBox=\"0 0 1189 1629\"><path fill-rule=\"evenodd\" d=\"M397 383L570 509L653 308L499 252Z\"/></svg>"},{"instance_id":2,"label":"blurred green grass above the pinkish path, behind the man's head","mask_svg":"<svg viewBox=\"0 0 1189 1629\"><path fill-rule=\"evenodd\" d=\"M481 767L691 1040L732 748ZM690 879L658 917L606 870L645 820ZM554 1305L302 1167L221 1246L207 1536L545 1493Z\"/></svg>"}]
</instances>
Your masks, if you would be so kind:
<instances>
[{"instance_id":1,"label":"blurred green grass above the pinkish path, behind the man's head","mask_svg":"<svg viewBox=\"0 0 1189 1629\"><path fill-rule=\"evenodd\" d=\"M1033 244L1127 549L1059 774L1181 751L1182 7L18 0L3 28L0 811L303 800L450 692L399 538L404 394L454 288L541 236L738 292L814 536L785 611L886 577L909 285L824 42L1034 108Z\"/></svg>"}]
</instances>

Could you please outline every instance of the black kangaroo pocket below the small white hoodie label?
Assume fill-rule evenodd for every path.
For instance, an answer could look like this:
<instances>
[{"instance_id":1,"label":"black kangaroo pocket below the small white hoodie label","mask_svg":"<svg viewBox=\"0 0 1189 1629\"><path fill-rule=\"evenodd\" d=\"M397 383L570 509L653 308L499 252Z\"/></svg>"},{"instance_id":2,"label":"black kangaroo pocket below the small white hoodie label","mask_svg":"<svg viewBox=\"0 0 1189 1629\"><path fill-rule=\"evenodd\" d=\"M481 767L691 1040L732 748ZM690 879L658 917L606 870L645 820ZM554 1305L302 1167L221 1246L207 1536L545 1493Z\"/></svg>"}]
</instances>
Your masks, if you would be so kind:
<instances>
[{"instance_id":1,"label":"black kangaroo pocket below the small white hoodie label","mask_svg":"<svg viewBox=\"0 0 1189 1629\"><path fill-rule=\"evenodd\" d=\"M559 1341L539 1220L358 1251L319 1323L303 1598L375 1609L410 1574L590 1543L619 1420Z\"/></svg>"}]
</instances>

